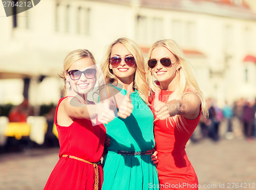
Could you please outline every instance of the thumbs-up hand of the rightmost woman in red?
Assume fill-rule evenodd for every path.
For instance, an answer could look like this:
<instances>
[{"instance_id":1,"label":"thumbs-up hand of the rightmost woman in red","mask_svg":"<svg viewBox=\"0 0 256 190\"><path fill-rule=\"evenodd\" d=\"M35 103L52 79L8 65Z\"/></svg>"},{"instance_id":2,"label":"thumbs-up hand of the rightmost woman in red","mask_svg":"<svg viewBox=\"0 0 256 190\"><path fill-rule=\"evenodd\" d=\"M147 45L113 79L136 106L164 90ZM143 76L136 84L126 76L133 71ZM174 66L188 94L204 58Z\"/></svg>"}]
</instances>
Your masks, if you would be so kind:
<instances>
[{"instance_id":1,"label":"thumbs-up hand of the rightmost woman in red","mask_svg":"<svg viewBox=\"0 0 256 190\"><path fill-rule=\"evenodd\" d=\"M155 115L159 120L165 120L170 116L168 106L159 100L159 91L156 91L154 98Z\"/></svg>"}]
</instances>

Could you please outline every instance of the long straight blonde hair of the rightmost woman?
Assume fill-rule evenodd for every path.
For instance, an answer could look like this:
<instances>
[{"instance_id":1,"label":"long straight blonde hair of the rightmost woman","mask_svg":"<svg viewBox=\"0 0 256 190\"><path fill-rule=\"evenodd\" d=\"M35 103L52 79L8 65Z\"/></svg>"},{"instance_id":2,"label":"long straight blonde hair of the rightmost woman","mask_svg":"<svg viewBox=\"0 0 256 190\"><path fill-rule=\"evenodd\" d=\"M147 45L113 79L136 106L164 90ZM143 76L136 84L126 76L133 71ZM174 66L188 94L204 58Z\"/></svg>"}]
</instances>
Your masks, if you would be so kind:
<instances>
[{"instance_id":1,"label":"long straight blonde hair of the rightmost woman","mask_svg":"<svg viewBox=\"0 0 256 190\"><path fill-rule=\"evenodd\" d=\"M148 60L151 59L152 51L158 46L166 47L166 49L168 49L180 63L180 68L179 68L180 83L179 83L179 86L175 89L175 91L168 97L168 101L174 100L174 99L180 100L184 94L191 93L191 92L195 93L201 99L201 108L202 108L203 115L205 117L208 117L208 108L207 108L203 93L199 89L199 85L193 73L194 68L185 59L185 56L181 48L179 47L179 45L172 39L159 40L152 45L150 52L148 53ZM151 92L160 90L160 87L154 81L150 67L147 67L146 75L147 75L148 84L150 86ZM187 89L191 90L191 92L190 91L186 92ZM173 120L176 123L176 125L178 125L178 121L180 121L181 125L185 128L184 118L181 115L175 115L173 117L169 117L169 119ZM172 124L172 122L170 123ZM177 126L177 127L181 128L181 126ZM185 130L187 129L185 128Z\"/></svg>"}]
</instances>

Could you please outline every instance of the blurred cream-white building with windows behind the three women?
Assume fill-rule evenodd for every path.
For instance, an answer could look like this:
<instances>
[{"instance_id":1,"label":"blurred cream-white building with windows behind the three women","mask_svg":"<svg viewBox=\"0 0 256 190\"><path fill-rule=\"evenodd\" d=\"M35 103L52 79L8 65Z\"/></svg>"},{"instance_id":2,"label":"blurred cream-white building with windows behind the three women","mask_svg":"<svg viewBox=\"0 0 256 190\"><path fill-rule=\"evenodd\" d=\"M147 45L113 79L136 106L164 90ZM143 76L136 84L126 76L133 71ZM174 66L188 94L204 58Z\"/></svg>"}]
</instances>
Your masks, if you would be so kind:
<instances>
[{"instance_id":1,"label":"blurred cream-white building with windows behind the three women","mask_svg":"<svg viewBox=\"0 0 256 190\"><path fill-rule=\"evenodd\" d=\"M57 103L63 59L90 50L99 63L118 37L135 40L145 58L159 39L175 39L194 65L202 91L225 100L256 97L256 2L247 0L44 0L14 16L0 7L0 104ZM40 83L38 79L46 76ZM10 80L8 80L10 81ZM21 86L21 87L20 87Z\"/></svg>"}]
</instances>

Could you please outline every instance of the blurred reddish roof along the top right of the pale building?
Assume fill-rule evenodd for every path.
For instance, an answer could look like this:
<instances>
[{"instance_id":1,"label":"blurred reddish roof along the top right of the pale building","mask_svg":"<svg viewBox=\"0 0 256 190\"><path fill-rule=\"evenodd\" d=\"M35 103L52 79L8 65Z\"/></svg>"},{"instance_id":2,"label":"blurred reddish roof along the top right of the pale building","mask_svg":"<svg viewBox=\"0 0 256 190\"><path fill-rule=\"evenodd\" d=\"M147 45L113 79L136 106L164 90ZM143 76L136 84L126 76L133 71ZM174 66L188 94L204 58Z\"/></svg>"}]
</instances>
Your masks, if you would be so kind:
<instances>
[{"instance_id":1,"label":"blurred reddish roof along the top right of the pale building","mask_svg":"<svg viewBox=\"0 0 256 190\"><path fill-rule=\"evenodd\" d=\"M123 5L139 5L140 7L185 11L210 14L216 16L256 20L256 13L242 0L97 0Z\"/></svg>"}]
</instances>

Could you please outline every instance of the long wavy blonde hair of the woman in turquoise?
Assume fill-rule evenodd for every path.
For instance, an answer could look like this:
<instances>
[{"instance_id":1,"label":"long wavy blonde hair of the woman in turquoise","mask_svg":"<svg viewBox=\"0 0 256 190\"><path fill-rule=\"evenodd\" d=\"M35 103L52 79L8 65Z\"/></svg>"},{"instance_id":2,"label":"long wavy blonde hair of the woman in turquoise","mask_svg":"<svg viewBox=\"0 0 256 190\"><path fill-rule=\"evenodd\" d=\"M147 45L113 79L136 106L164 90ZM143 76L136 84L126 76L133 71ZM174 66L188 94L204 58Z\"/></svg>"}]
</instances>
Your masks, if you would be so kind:
<instances>
[{"instance_id":1,"label":"long wavy blonde hair of the woman in turquoise","mask_svg":"<svg viewBox=\"0 0 256 190\"><path fill-rule=\"evenodd\" d=\"M146 83L144 57L140 47L133 40L129 38L119 38L108 46L108 49L106 50L106 54L101 62L101 70L102 70L106 84L118 83L118 80L116 76L113 74L112 69L109 68L112 47L117 43L123 44L126 47L126 49L134 56L136 61L134 88L138 90L141 99L146 104L149 104L148 102L149 88Z\"/></svg>"}]
</instances>

